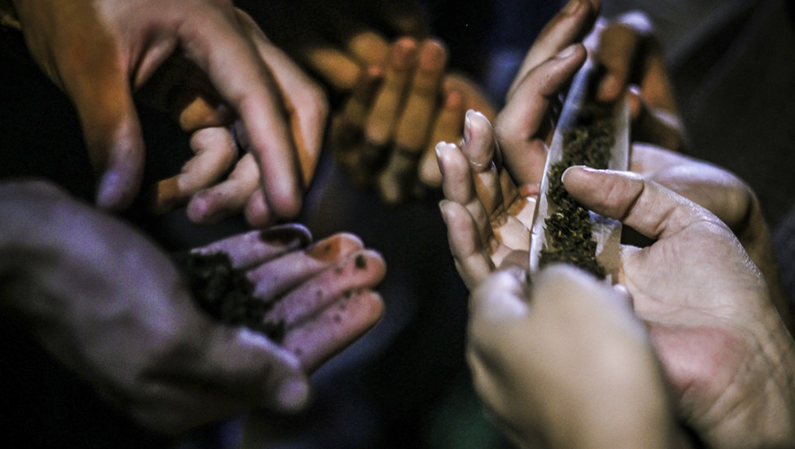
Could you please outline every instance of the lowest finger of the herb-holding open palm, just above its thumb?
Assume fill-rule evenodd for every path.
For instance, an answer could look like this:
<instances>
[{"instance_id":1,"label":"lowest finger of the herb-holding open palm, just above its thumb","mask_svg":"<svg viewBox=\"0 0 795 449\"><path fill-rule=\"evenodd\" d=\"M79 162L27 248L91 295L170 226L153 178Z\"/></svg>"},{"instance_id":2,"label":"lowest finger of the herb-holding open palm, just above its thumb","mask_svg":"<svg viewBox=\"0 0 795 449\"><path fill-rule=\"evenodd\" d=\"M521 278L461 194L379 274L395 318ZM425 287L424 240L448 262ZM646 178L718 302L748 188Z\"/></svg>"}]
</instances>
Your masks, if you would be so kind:
<instances>
[{"instance_id":1,"label":"lowest finger of the herb-holding open palm, just above its thumb","mask_svg":"<svg viewBox=\"0 0 795 449\"><path fill-rule=\"evenodd\" d=\"M282 346L296 355L307 373L312 373L375 326L383 315L380 295L368 289L356 290L288 330Z\"/></svg>"}]
</instances>

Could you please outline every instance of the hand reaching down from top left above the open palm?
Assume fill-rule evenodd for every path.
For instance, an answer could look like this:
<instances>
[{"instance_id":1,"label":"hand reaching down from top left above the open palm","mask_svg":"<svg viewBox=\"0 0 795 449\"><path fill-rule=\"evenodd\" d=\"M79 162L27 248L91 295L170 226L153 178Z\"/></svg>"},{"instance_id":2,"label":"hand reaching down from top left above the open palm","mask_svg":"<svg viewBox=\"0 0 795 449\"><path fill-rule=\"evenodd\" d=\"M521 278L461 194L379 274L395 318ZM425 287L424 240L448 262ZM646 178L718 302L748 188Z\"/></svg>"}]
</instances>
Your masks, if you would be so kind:
<instances>
[{"instance_id":1,"label":"hand reaching down from top left above the open palm","mask_svg":"<svg viewBox=\"0 0 795 449\"><path fill-rule=\"evenodd\" d=\"M169 104L182 128L234 123L248 153L231 184L196 199L192 216L208 221L244 206L250 221L261 224L298 213L318 157L326 103L230 1L13 0L13 6L31 55L75 103L100 173L100 207L126 207L137 194L144 143L133 93L176 57L190 61L187 79L199 79ZM161 207L216 181L219 167L230 163L225 130L200 134L192 142L200 162L165 189Z\"/></svg>"}]
</instances>

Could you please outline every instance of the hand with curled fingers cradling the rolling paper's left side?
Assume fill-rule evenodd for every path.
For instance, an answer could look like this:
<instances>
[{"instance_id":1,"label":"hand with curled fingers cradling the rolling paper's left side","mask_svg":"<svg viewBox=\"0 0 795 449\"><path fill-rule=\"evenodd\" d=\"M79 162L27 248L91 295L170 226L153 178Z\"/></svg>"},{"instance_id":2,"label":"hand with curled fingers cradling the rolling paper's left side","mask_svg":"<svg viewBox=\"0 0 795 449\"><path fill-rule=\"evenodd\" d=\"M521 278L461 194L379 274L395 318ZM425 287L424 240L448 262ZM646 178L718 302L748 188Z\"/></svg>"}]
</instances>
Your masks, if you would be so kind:
<instances>
[{"instance_id":1,"label":"hand with curled fingers cradling the rolling paper's left side","mask_svg":"<svg viewBox=\"0 0 795 449\"><path fill-rule=\"evenodd\" d=\"M526 100L517 101L515 107L509 106L508 116L502 115L506 110L500 112L500 118L514 119L519 108L526 109L522 112L530 117L526 129L539 129L540 118L552 95L570 80L585 57L585 49L574 46L538 66L526 75L517 90L517 98ZM508 161L507 152L502 152L508 147L514 148L514 156L519 154L517 147L523 147L527 150L526 159ZM444 142L437 145L446 198L440 207L456 268L470 288L506 260L527 265L529 229L541 178L536 172L543 169L541 156L545 158L545 153L546 146L540 136L511 139L505 146L497 145L489 120L473 111L466 114L461 148ZM528 166L531 173L527 174L522 169L533 155L539 157L535 163L540 165ZM521 169L508 165L517 161L521 162ZM510 168L513 170L509 174ZM511 174L522 181L516 182ZM532 182L534 177L538 179Z\"/></svg>"}]
</instances>

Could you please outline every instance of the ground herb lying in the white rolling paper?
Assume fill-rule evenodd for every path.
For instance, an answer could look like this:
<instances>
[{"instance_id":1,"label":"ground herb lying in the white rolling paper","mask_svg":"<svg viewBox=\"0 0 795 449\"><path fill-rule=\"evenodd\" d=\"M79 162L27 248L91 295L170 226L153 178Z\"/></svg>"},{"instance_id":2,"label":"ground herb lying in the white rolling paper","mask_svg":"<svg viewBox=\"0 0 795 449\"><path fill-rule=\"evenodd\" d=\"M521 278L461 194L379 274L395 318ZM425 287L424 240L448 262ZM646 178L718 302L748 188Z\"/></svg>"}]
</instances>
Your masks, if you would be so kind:
<instances>
[{"instance_id":1,"label":"ground herb lying in the white rolling paper","mask_svg":"<svg viewBox=\"0 0 795 449\"><path fill-rule=\"evenodd\" d=\"M563 187L561 176L572 165L606 169L614 143L614 122L609 105L590 102L579 110L574 124L563 134L563 154L549 172L547 198L553 213L544 220L550 247L539 255L539 266L569 263L594 276L605 278L605 269L596 261L596 241L587 208L582 207Z\"/></svg>"}]
</instances>

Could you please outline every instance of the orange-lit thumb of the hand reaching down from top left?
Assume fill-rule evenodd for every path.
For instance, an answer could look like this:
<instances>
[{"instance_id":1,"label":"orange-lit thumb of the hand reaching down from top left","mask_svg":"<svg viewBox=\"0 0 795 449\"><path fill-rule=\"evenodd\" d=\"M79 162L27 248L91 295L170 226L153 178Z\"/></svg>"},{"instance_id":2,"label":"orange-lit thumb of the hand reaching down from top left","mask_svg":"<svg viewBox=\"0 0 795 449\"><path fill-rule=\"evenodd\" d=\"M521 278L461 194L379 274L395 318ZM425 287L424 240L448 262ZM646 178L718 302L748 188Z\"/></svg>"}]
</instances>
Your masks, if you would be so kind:
<instances>
[{"instance_id":1,"label":"orange-lit thumb of the hand reaching down from top left","mask_svg":"<svg viewBox=\"0 0 795 449\"><path fill-rule=\"evenodd\" d=\"M91 162L99 173L97 206L120 210L140 189L144 139L128 80L121 71L108 72L84 73L66 90L75 102Z\"/></svg>"}]
</instances>

